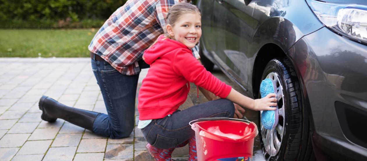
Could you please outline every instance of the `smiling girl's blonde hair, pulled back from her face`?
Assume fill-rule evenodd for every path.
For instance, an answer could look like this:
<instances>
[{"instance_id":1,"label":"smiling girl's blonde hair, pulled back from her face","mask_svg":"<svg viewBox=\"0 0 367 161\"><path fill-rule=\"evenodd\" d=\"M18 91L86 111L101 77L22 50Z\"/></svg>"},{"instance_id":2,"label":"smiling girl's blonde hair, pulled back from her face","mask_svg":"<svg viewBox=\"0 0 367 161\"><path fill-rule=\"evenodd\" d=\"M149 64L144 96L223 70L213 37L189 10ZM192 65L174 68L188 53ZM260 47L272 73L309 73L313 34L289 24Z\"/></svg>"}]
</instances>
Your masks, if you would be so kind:
<instances>
[{"instance_id":1,"label":"smiling girl's blonde hair, pulled back from her face","mask_svg":"<svg viewBox=\"0 0 367 161\"><path fill-rule=\"evenodd\" d=\"M167 13L167 23L166 25L170 24L171 26L174 26L176 21L178 20L178 18L182 15L182 14L187 14L187 13L197 13L200 15L201 17L201 11L199 9L199 7L190 4L190 3L178 3L173 5ZM170 34L164 33L164 35L166 37L169 37L171 39Z\"/></svg>"}]
</instances>

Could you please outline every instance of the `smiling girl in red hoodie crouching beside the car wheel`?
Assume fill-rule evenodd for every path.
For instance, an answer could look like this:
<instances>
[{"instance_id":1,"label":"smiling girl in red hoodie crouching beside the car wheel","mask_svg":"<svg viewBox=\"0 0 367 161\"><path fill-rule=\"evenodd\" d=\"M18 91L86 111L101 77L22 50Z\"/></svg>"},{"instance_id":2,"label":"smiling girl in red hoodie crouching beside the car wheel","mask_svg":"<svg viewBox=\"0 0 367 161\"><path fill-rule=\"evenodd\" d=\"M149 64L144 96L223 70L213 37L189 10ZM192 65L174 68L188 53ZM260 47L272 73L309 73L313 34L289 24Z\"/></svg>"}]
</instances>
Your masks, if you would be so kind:
<instances>
[{"instance_id":1,"label":"smiling girl in red hoodie crouching beside the car wheel","mask_svg":"<svg viewBox=\"0 0 367 161\"><path fill-rule=\"evenodd\" d=\"M201 12L189 3L175 4L167 15L166 34L144 52L150 64L139 90L138 128L146 148L157 161L170 161L175 147L189 143L189 161L197 160L195 132L189 122L206 117L233 117L236 103L251 110L275 110L275 94L262 99L246 97L221 82L192 55L201 36ZM186 101L190 82L223 99L178 110Z\"/></svg>"}]
</instances>

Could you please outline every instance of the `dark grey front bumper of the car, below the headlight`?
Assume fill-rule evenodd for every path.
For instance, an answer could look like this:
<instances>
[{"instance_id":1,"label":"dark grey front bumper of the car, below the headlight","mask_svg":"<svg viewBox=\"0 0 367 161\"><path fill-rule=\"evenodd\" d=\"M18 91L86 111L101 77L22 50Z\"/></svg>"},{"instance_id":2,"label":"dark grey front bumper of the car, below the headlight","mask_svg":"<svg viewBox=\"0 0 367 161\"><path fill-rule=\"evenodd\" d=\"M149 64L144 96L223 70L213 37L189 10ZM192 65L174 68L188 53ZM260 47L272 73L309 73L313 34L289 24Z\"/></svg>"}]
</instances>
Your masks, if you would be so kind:
<instances>
[{"instance_id":1,"label":"dark grey front bumper of the car, below the headlight","mask_svg":"<svg viewBox=\"0 0 367 161\"><path fill-rule=\"evenodd\" d=\"M350 154L345 159L366 159L367 149L345 137L334 104L338 101L367 112L367 70L363 70L367 69L367 46L327 28L305 36L302 41L307 44L308 54L307 69L301 78L304 93L310 100L315 146L335 156L339 151ZM298 48L295 53L302 53L301 46L305 47L295 45ZM365 131L360 129L360 133ZM330 151L335 147L338 149Z\"/></svg>"}]
</instances>

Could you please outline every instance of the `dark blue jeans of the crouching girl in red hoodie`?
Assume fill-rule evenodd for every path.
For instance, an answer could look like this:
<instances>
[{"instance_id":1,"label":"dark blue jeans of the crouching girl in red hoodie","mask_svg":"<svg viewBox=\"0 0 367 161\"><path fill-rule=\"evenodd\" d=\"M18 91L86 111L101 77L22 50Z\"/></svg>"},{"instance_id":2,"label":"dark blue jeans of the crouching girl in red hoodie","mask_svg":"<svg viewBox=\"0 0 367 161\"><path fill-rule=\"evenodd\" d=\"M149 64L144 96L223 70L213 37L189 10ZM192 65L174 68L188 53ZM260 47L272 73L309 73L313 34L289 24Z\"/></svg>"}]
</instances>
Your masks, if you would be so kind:
<instances>
[{"instance_id":1,"label":"dark blue jeans of the crouching girl in red hoodie","mask_svg":"<svg viewBox=\"0 0 367 161\"><path fill-rule=\"evenodd\" d=\"M153 119L141 129L146 141L159 149L177 146L195 136L195 131L189 125L190 121L207 117L230 117L235 114L232 101L218 99L175 111L171 116Z\"/></svg>"}]
</instances>

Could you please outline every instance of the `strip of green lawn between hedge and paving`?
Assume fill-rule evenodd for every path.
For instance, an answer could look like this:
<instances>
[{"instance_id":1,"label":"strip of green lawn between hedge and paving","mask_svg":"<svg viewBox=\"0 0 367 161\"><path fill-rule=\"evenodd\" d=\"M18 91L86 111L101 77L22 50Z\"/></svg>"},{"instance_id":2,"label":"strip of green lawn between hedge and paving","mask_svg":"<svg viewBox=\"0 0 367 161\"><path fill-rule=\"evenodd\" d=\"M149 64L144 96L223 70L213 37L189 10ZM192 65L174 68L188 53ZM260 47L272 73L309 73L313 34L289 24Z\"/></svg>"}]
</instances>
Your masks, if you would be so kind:
<instances>
[{"instance_id":1,"label":"strip of green lawn between hedge and paving","mask_svg":"<svg viewBox=\"0 0 367 161\"><path fill-rule=\"evenodd\" d=\"M0 57L89 57L97 29L0 29Z\"/></svg>"}]
</instances>

